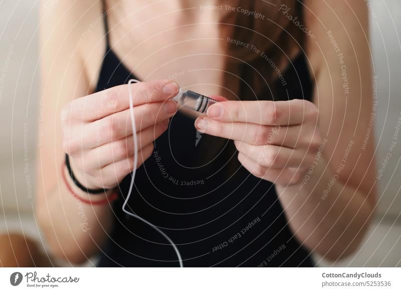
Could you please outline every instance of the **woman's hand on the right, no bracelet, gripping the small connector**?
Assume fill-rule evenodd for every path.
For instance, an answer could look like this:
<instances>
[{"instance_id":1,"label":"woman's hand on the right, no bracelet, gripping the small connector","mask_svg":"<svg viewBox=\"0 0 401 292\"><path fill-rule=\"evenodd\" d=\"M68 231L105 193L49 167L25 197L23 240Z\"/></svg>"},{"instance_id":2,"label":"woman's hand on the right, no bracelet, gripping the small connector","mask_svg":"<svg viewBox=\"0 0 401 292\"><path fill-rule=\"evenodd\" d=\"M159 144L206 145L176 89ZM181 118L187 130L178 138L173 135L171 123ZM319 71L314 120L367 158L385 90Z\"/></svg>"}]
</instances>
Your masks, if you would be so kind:
<instances>
[{"instance_id":1,"label":"woman's hand on the right, no bracelet, gripping the small connector","mask_svg":"<svg viewBox=\"0 0 401 292\"><path fill-rule=\"evenodd\" d=\"M302 99L219 102L195 127L233 139L238 160L250 173L283 186L302 179L321 143L317 108Z\"/></svg>"}]
</instances>

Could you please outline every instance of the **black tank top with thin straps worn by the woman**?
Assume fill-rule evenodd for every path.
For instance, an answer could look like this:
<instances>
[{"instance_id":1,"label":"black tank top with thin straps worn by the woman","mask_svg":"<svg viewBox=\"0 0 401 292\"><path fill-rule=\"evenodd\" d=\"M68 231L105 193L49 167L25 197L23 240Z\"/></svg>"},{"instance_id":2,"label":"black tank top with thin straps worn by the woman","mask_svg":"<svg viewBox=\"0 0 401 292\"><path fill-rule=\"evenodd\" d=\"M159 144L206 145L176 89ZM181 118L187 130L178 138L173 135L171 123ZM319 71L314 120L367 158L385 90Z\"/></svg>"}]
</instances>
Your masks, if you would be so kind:
<instances>
[{"instance_id":1,"label":"black tank top with thin straps worn by the woman","mask_svg":"<svg viewBox=\"0 0 401 292\"><path fill-rule=\"evenodd\" d=\"M135 78L110 47L104 21L106 53L96 91ZM278 96L310 100L303 54L284 78L288 85L277 86ZM202 163L199 158L214 147L216 137L200 135L193 122L179 111L171 118L155 140L152 156L136 172L127 209L162 229L176 244L184 266L313 266L310 252L289 229L274 185L243 167L227 178L227 157L237 159L237 154L223 155L225 147ZM128 175L119 185L112 232L98 266L179 266L164 237L122 212L130 180Z\"/></svg>"}]
</instances>

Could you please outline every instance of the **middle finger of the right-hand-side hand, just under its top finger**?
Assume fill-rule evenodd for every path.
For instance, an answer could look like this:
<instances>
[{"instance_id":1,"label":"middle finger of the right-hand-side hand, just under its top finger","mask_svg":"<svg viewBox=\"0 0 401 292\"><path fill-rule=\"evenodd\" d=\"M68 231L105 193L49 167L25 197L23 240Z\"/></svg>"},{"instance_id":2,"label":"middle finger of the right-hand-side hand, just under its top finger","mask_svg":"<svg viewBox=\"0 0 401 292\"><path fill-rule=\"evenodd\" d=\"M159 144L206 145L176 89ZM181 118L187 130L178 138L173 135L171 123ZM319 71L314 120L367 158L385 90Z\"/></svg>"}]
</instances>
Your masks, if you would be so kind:
<instances>
[{"instance_id":1,"label":"middle finger of the right-hand-side hand, just under its top finger","mask_svg":"<svg viewBox=\"0 0 401 292\"><path fill-rule=\"evenodd\" d=\"M268 126L245 122L221 122L207 116L195 120L199 132L254 145L275 144L289 148L307 145L307 135L301 135L304 125ZM309 141L310 143L310 141Z\"/></svg>"}]
</instances>

